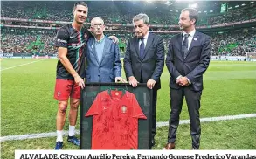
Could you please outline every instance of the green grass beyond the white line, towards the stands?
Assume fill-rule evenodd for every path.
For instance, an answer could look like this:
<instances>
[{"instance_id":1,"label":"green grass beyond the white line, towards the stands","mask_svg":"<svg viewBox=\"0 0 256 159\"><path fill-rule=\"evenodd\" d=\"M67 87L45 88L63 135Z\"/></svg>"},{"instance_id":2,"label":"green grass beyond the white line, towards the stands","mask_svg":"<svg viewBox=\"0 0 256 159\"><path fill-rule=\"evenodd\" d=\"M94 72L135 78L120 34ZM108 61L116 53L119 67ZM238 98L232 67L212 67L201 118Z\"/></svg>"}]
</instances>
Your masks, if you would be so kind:
<instances>
[{"instance_id":1,"label":"green grass beyond the white line, towards the stands","mask_svg":"<svg viewBox=\"0 0 256 159\"><path fill-rule=\"evenodd\" d=\"M20 65L20 61L29 63L35 60L38 59L3 59L2 69ZM56 62L56 59L46 59L2 71L2 136L55 131L57 101L53 99L53 90ZM169 78L165 67L161 77L162 89L158 93L157 121L169 120ZM204 74L200 116L256 113L255 79L255 63L211 61ZM181 119L189 119L185 101Z\"/></svg>"}]
</instances>

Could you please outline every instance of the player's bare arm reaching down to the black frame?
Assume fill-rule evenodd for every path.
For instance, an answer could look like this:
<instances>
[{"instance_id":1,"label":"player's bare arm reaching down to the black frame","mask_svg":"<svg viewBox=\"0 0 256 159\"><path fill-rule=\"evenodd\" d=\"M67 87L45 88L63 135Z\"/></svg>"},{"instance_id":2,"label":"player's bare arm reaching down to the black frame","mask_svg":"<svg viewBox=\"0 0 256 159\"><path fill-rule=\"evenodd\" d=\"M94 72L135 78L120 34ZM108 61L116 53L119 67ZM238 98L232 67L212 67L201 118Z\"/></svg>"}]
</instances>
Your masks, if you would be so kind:
<instances>
[{"instance_id":1,"label":"player's bare arm reaching down to the black frame","mask_svg":"<svg viewBox=\"0 0 256 159\"><path fill-rule=\"evenodd\" d=\"M85 87L84 80L73 69L73 66L71 65L69 59L67 59L66 55L67 55L67 48L59 47L58 48L59 61L66 68L66 71L68 71L68 73L70 73L73 76L75 83L78 84L79 86L81 86L81 88L84 88Z\"/></svg>"}]
</instances>

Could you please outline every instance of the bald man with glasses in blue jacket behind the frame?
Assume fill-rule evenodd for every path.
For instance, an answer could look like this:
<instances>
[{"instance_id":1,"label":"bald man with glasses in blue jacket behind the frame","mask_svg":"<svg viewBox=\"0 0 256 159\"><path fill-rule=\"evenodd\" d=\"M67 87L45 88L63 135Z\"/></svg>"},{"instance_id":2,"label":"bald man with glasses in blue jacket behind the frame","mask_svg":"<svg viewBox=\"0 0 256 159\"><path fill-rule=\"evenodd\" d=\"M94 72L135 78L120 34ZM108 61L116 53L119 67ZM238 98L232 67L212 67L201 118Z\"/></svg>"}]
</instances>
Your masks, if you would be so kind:
<instances>
[{"instance_id":1,"label":"bald man with glasses in blue jacket behind the frame","mask_svg":"<svg viewBox=\"0 0 256 159\"><path fill-rule=\"evenodd\" d=\"M104 35L105 25L100 17L91 21L94 38L86 44L86 82L126 82L121 78L118 44Z\"/></svg>"}]
</instances>

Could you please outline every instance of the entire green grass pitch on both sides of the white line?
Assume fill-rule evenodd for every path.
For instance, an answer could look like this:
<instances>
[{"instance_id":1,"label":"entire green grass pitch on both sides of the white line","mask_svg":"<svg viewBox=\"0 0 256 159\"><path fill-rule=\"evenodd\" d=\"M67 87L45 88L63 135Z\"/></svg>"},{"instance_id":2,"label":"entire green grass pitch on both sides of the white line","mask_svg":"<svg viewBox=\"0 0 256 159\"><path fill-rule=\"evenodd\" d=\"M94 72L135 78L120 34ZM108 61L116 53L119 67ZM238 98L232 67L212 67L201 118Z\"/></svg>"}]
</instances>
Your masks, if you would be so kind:
<instances>
[{"instance_id":1,"label":"entire green grass pitch on both sides of the white line","mask_svg":"<svg viewBox=\"0 0 256 159\"><path fill-rule=\"evenodd\" d=\"M1 136L55 132L57 101L53 99L57 59L1 60ZM170 116L170 74L165 67L158 92L157 121ZM256 113L256 63L211 61L204 73L200 117ZM189 119L185 101L181 120ZM65 130L68 129L66 121ZM79 129L79 123L77 126ZM163 149L167 127L157 128L156 146ZM55 138L2 142L1 156L15 149L53 149ZM190 125L178 129L177 149L190 149ZM66 144L65 149L78 149ZM201 149L256 149L256 118L202 123Z\"/></svg>"}]
</instances>

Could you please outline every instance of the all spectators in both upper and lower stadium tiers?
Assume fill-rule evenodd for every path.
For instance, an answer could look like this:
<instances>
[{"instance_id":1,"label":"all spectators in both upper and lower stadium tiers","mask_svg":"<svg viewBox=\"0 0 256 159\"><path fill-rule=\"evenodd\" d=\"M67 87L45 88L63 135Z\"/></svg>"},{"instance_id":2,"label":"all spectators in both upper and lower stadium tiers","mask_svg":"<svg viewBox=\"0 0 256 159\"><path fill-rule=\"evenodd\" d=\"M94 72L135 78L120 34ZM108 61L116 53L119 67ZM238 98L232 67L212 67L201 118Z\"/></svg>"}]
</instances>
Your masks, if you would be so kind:
<instances>
[{"instance_id":1,"label":"all spectators in both upper and lower stadium tiers","mask_svg":"<svg viewBox=\"0 0 256 159\"><path fill-rule=\"evenodd\" d=\"M73 2L44 2L44 1L3 1L1 17L24 18L24 19L43 19L50 21L71 22L73 19ZM15 6L15 11L13 10ZM120 39L121 52L125 51L128 38L134 36L133 27L125 24L132 24L132 18L137 13L143 12L149 15L150 24L177 24L179 11L172 10L163 3L150 4L138 1L89 1L89 16L87 22L93 17L102 17L105 24L122 24L121 27L114 26L116 30L126 30L130 32L109 32ZM254 7L253 7L254 6ZM231 22L245 21L256 18L255 4L248 6L247 9L235 9L225 14L212 13L200 14L197 25L225 24ZM60 27L63 24L34 23L17 21L2 21L1 24L39 26L39 27ZM86 26L87 27L87 26ZM107 26L108 29L112 26ZM158 27L151 28L151 31L172 31L178 28ZM36 30L36 29L15 29L4 27L1 29L1 49L6 53L24 54L55 54L54 38L57 30ZM157 33L163 37L164 45L167 48L169 39L174 33ZM167 49L166 49L167 50ZM211 55L232 55L245 56L246 52L256 52L256 33L241 29L235 33L211 33Z\"/></svg>"}]
</instances>

